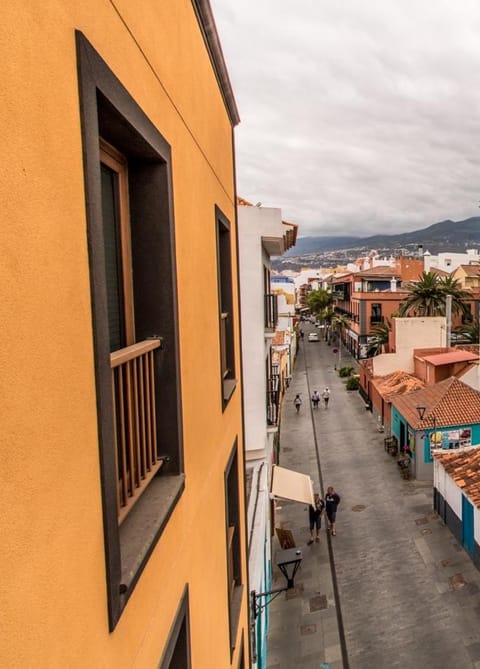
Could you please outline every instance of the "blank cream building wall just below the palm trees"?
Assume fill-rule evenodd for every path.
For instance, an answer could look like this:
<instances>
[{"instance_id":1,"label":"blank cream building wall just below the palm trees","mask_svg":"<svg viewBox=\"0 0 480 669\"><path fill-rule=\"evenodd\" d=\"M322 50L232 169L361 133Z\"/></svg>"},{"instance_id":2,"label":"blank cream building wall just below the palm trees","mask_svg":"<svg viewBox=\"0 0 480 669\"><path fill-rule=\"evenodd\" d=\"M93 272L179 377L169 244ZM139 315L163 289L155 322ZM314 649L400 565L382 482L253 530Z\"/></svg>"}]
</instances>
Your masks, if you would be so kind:
<instances>
[{"instance_id":1,"label":"blank cream building wall just below the palm trees","mask_svg":"<svg viewBox=\"0 0 480 669\"><path fill-rule=\"evenodd\" d=\"M413 373L413 350L447 345L446 318L393 318L396 328L395 353L382 353L372 358L374 376L384 376L399 369Z\"/></svg>"}]
</instances>

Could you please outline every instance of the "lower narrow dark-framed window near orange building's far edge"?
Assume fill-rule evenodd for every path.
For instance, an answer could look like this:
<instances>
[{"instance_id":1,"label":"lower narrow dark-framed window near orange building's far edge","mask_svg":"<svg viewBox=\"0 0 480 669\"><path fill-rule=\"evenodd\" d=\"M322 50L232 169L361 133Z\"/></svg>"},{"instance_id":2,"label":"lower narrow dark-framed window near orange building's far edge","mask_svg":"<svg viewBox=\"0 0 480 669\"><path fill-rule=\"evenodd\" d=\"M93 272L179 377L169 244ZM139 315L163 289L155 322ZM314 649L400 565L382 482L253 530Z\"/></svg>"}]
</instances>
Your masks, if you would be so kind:
<instances>
[{"instance_id":1,"label":"lower narrow dark-framed window near orange building's far edge","mask_svg":"<svg viewBox=\"0 0 480 669\"><path fill-rule=\"evenodd\" d=\"M239 489L239 459L238 442L235 440L230 453L227 466L225 468L225 539L228 550L228 528L233 521L235 526L234 547L233 547L233 567L235 576L235 589L233 595L230 594L230 583L227 569L227 589L228 589L228 619L230 633L230 661L235 649L235 639L240 622L240 608L243 596L243 574L242 574L242 538L240 536L240 489ZM228 561L228 556L227 556Z\"/></svg>"}]
</instances>

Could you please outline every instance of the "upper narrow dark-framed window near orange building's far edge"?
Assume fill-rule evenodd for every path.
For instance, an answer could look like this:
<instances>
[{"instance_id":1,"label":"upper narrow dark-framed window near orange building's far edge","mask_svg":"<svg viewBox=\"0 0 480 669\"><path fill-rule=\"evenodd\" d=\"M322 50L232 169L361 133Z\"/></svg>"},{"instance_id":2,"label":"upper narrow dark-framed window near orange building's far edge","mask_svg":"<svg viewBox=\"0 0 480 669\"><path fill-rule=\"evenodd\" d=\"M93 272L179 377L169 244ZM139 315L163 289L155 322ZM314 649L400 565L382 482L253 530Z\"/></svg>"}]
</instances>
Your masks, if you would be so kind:
<instances>
[{"instance_id":1,"label":"upper narrow dark-framed window near orange building's far edge","mask_svg":"<svg viewBox=\"0 0 480 669\"><path fill-rule=\"evenodd\" d=\"M222 348L220 346L221 391L223 409L227 406L237 385L235 378L235 337L234 337L234 305L233 305L233 278L232 278L232 238L230 221L215 206L215 228L217 236L217 269L218 269L218 304L220 341L222 339L222 312L228 313L226 323L226 359L228 373L223 375Z\"/></svg>"}]
</instances>

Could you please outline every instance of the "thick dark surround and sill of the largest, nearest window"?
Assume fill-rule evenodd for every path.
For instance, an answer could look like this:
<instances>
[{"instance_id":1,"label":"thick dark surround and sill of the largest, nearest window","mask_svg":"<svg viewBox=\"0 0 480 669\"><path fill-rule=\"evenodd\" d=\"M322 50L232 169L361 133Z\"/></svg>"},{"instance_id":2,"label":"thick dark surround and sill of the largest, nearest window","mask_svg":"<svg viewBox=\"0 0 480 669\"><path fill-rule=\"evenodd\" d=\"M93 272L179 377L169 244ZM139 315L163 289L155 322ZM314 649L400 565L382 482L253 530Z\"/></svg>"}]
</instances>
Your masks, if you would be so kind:
<instances>
[{"instance_id":1,"label":"thick dark surround and sill of the largest, nearest window","mask_svg":"<svg viewBox=\"0 0 480 669\"><path fill-rule=\"evenodd\" d=\"M81 32L75 33L85 175L100 472L112 631L184 490L171 149ZM128 160L136 340L155 357L164 465L119 527L100 187L100 137ZM141 221L141 224L140 224ZM136 222L136 224L135 224ZM139 276L139 275L140 276ZM161 401L160 401L161 400Z\"/></svg>"}]
</instances>

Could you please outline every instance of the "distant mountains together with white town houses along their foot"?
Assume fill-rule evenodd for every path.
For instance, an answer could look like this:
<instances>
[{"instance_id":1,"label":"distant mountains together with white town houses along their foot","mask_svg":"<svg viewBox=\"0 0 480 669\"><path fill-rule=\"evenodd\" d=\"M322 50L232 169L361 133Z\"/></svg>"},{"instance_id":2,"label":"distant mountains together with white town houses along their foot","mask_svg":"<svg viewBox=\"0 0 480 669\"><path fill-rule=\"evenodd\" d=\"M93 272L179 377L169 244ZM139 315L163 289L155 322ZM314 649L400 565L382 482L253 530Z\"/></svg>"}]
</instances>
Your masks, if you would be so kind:
<instances>
[{"instance_id":1,"label":"distant mountains together with white town houses along their foot","mask_svg":"<svg viewBox=\"0 0 480 669\"><path fill-rule=\"evenodd\" d=\"M306 264L311 265L315 260L312 256L318 256L318 260L322 261L319 263L321 266L327 258L330 262L335 259L345 261L372 249L386 256L416 253L419 247L422 247L420 250L423 252L429 251L433 255L442 251L464 253L466 249L480 247L480 216L464 221L441 221L427 228L395 235L300 237L293 248L281 258L275 259L274 265L277 269L284 268L285 265L302 265L305 262L302 263L301 259L305 256L309 260Z\"/></svg>"}]
</instances>

